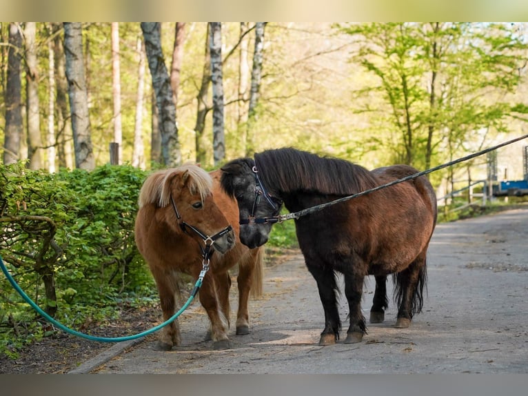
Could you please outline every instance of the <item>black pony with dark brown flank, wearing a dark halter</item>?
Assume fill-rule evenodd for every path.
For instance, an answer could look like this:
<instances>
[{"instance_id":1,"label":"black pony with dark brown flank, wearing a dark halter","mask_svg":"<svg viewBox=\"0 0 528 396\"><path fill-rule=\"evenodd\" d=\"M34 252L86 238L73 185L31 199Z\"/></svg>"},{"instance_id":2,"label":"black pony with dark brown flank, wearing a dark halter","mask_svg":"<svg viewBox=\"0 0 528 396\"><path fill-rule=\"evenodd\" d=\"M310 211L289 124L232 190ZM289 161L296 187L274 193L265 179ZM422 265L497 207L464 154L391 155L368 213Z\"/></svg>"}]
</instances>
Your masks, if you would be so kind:
<instances>
[{"instance_id":1,"label":"black pony with dark brown flank, wearing a dark halter","mask_svg":"<svg viewBox=\"0 0 528 396\"><path fill-rule=\"evenodd\" d=\"M282 203L297 212L418 172L406 165L369 171L294 148L260 152L254 160L235 159L222 170L222 188L238 201L240 239L250 248L266 243ZM319 344L334 344L341 330L335 271L344 276L350 310L345 343L362 341L367 333L361 313L366 275L376 279L370 322L385 319L387 275L394 274L396 327L409 326L423 307L425 257L436 212L434 189L422 176L295 220L297 239L325 310Z\"/></svg>"}]
</instances>

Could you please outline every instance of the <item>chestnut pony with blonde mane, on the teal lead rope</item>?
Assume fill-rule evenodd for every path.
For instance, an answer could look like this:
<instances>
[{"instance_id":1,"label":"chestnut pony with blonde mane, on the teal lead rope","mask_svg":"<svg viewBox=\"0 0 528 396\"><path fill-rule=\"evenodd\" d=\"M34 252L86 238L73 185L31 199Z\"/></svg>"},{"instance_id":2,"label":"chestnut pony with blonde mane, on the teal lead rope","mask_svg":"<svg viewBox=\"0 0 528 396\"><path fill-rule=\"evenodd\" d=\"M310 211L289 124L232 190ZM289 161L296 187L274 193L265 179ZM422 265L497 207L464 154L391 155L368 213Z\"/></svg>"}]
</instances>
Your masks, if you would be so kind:
<instances>
[{"instance_id":1,"label":"chestnut pony with blonde mane, on the teal lead rope","mask_svg":"<svg viewBox=\"0 0 528 396\"><path fill-rule=\"evenodd\" d=\"M207 173L190 164L152 173L141 187L135 224L136 244L156 281L163 321L176 312L179 274L189 274L195 280L199 277L204 237L222 235L212 244L210 270L199 291L210 319L206 339L214 341L215 349L230 348L228 270L238 264L237 335L249 333L247 302L250 290L255 296L261 294L263 277L263 251L249 249L238 239L238 208L221 190L220 173ZM227 228L230 224L232 230ZM180 343L176 319L161 329L158 348L170 350Z\"/></svg>"}]
</instances>

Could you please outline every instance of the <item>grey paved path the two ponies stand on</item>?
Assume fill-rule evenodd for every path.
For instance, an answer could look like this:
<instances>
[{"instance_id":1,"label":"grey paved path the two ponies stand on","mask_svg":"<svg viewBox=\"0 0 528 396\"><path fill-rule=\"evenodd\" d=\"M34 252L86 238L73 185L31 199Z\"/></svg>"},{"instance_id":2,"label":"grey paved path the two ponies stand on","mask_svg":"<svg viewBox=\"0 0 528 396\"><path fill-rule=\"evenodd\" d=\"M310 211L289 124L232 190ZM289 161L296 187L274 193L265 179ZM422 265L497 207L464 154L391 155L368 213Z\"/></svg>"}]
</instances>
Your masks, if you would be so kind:
<instances>
[{"instance_id":1,"label":"grey paved path the two ponies stand on","mask_svg":"<svg viewBox=\"0 0 528 396\"><path fill-rule=\"evenodd\" d=\"M3 373L65 373L74 368L77 373L527 373L527 240L528 208L438 225L429 246L423 313L409 328L396 329L396 307L390 304L385 323L367 324L361 344L318 346L323 310L315 281L296 253L267 268L265 295L251 301L252 333L236 336L233 330L230 350L212 350L211 341L203 341L207 315L193 304L181 317L183 345L170 352L154 350L156 337L150 336L99 360L109 346L81 346L64 364L61 351L72 346L56 339L35 346L33 357L11 366L0 362L0 368ZM365 281L367 317L374 286L374 279ZM390 281L388 286L391 293ZM347 310L343 298L345 330ZM156 319L159 313L152 311L146 319L136 318L145 328Z\"/></svg>"}]
</instances>

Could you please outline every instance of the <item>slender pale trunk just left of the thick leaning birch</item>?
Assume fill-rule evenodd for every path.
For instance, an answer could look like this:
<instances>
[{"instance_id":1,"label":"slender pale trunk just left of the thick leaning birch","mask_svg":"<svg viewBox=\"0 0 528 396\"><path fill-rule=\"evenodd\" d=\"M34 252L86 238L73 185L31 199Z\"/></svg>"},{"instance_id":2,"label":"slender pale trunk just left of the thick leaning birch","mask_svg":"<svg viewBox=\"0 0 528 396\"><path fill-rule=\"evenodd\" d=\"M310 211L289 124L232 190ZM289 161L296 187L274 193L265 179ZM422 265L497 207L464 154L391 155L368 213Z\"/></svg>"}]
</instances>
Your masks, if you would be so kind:
<instances>
[{"instance_id":1,"label":"slender pale trunk just left of the thick leaning birch","mask_svg":"<svg viewBox=\"0 0 528 396\"><path fill-rule=\"evenodd\" d=\"M145 95L145 46L143 46L141 37L137 39L136 50L139 58L139 67L132 166L145 169L145 150L143 147L143 134L141 133L143 131L143 97Z\"/></svg>"}]
</instances>

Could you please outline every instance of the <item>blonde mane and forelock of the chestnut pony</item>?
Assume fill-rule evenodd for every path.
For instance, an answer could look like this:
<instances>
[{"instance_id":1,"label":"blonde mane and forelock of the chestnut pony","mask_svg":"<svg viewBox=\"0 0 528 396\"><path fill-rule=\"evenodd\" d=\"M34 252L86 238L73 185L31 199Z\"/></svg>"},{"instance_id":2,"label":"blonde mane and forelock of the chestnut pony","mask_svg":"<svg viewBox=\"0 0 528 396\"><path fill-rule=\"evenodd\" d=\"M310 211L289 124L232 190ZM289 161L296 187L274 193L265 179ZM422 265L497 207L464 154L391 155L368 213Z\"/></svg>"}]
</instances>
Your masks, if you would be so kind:
<instances>
[{"instance_id":1,"label":"blonde mane and forelock of the chestnut pony","mask_svg":"<svg viewBox=\"0 0 528 396\"><path fill-rule=\"evenodd\" d=\"M182 177L187 172L187 187L191 194L200 194L201 201L212 190L212 179L205 170L194 164L183 164L178 168L158 170L143 183L139 192L139 207L156 204L165 207L170 204L170 182L174 177Z\"/></svg>"}]
</instances>

